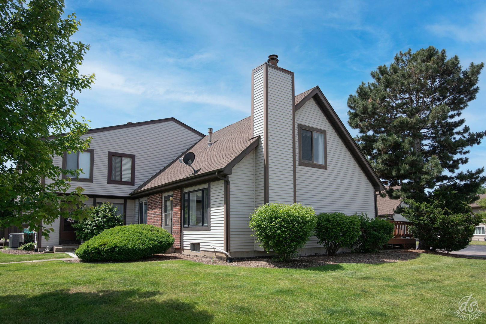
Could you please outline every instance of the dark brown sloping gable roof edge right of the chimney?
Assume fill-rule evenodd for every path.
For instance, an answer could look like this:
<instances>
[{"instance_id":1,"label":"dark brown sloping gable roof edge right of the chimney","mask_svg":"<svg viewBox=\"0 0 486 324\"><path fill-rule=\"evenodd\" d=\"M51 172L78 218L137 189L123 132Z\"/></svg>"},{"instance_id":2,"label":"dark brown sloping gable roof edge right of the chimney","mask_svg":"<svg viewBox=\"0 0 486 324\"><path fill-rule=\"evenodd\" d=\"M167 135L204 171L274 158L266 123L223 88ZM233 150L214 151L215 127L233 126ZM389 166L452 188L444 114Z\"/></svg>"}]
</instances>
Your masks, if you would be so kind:
<instances>
[{"instance_id":1,"label":"dark brown sloping gable roof edge right of the chimney","mask_svg":"<svg viewBox=\"0 0 486 324\"><path fill-rule=\"evenodd\" d=\"M314 99L314 101L317 103L317 106L324 114L324 116L329 120L330 124L332 125L332 127L334 128L338 136L341 138L341 140L343 141L347 150L349 151L349 153L351 153L353 158L356 160L356 163L358 163L361 170L364 172L364 174L371 182L375 190L377 191L384 190L382 181L375 173L375 171L369 164L366 157L364 157L364 154L363 152L361 152L361 149L359 148L358 144L356 144L353 137L349 134L343 122L341 121L341 119L339 119L336 112L330 105L329 101L322 93L319 86L315 86L312 89L309 89L295 96L294 112L299 110L306 102L311 100L311 98Z\"/></svg>"}]
</instances>

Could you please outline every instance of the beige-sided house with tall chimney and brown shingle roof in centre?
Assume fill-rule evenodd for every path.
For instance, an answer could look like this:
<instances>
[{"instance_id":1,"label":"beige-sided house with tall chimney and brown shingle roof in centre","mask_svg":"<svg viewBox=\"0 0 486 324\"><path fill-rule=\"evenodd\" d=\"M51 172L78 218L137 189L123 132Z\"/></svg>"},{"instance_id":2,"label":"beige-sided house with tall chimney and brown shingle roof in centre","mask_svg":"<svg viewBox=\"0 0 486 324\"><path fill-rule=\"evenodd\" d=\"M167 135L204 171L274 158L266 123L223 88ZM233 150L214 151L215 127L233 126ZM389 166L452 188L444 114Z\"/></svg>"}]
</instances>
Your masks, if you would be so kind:
<instances>
[{"instance_id":1,"label":"beige-sided house with tall chimney and brown shingle roof in centre","mask_svg":"<svg viewBox=\"0 0 486 324\"><path fill-rule=\"evenodd\" d=\"M124 128L123 138L137 139L130 143L115 135L95 141L89 134L97 186L73 183L86 188L88 195L99 195L97 203L126 201L127 224L162 226L174 236L175 251L185 254L265 254L248 226L250 213L265 203L300 202L312 205L316 213L376 216L375 192L384 187L320 88L295 96L294 73L277 67L276 56L269 58L252 71L251 116L204 138L175 119L171 125L179 126L178 131L165 130L163 123L159 132ZM121 147L112 147L117 143ZM97 153L97 145L104 147L103 153ZM146 153L143 157L141 150ZM118 162L112 158L110 163L109 156L121 156L117 170L122 178L125 156L108 151L137 156L132 162L135 183L110 184L109 177L118 173L108 169ZM179 163L188 152L195 154L195 173ZM97 156L104 156L98 167ZM56 240L52 235L52 242L57 244ZM324 253L324 249L312 237L299 253Z\"/></svg>"}]
</instances>

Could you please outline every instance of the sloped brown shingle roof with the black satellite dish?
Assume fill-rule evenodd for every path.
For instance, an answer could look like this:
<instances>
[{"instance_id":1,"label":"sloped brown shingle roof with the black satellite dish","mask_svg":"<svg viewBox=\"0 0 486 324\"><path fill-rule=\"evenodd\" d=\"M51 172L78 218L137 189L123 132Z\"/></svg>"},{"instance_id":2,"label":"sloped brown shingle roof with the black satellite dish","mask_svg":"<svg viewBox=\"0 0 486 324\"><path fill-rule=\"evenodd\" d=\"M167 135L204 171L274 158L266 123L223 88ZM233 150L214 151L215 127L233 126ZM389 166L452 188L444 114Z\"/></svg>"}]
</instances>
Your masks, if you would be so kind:
<instances>
[{"instance_id":1,"label":"sloped brown shingle roof with the black satellite dish","mask_svg":"<svg viewBox=\"0 0 486 324\"><path fill-rule=\"evenodd\" d=\"M152 178L135 189L132 194L141 191L162 187L170 183L196 178L211 172L222 171L231 168L237 158L243 158L246 149L258 145L260 137L253 137L251 117L242 119L234 124L226 126L212 134L212 145L208 147L208 136L203 137L194 144L187 152L195 155L194 169L199 170L193 174L191 167L179 163L179 158L172 161L167 167L157 172ZM253 146L253 147L252 147ZM243 156L241 156L243 154Z\"/></svg>"}]
</instances>

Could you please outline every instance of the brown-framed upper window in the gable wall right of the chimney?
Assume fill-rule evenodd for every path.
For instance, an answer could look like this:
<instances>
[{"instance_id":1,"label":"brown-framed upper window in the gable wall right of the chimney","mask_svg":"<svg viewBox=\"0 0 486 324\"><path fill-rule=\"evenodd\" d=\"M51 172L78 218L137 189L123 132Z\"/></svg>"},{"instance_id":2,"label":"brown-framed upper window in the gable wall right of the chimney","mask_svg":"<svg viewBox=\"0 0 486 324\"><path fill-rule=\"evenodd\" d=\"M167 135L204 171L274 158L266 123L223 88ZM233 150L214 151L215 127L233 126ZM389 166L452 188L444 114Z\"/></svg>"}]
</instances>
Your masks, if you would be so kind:
<instances>
[{"instance_id":1,"label":"brown-framed upper window in the gable wall right of the chimney","mask_svg":"<svg viewBox=\"0 0 486 324\"><path fill-rule=\"evenodd\" d=\"M327 169L326 131L310 126L298 125L299 165Z\"/></svg>"}]
</instances>

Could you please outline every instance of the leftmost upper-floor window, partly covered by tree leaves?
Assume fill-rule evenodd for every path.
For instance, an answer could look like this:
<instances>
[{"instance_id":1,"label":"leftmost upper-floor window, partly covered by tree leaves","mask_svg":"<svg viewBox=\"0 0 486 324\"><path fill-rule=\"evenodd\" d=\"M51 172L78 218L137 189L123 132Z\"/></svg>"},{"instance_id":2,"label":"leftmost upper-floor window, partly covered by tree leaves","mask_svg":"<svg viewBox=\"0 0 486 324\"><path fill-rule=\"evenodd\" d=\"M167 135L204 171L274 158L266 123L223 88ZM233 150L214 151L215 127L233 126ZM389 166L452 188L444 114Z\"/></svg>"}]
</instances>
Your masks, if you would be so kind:
<instances>
[{"instance_id":1,"label":"leftmost upper-floor window, partly covered by tree leaves","mask_svg":"<svg viewBox=\"0 0 486 324\"><path fill-rule=\"evenodd\" d=\"M93 182L93 160L94 151L87 149L86 151L65 152L62 159L62 168L65 170L81 169L79 176L71 172L63 175L63 178L70 178L71 181Z\"/></svg>"}]
</instances>

